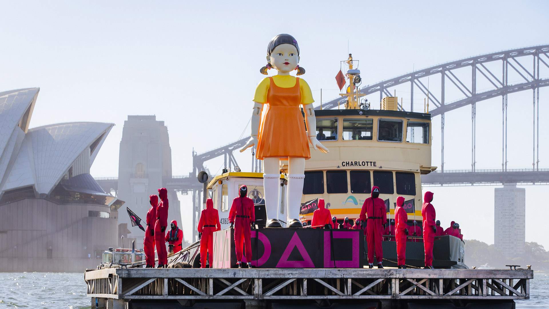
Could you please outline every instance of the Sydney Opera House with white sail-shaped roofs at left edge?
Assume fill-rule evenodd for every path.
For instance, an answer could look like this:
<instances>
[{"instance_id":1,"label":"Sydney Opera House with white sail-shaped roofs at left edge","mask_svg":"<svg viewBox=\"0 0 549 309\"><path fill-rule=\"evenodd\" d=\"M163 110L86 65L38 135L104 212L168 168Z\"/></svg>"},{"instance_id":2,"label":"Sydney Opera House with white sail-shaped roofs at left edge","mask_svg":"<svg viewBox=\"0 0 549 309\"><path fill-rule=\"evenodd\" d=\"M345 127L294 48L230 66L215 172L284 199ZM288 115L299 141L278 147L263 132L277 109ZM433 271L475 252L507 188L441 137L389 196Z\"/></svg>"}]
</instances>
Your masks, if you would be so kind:
<instances>
[{"instance_id":1,"label":"Sydney Opera House with white sail-shaped roofs at left edge","mask_svg":"<svg viewBox=\"0 0 549 309\"><path fill-rule=\"evenodd\" d=\"M29 129L39 91L0 92L0 272L96 268L124 203L89 174L113 124Z\"/></svg>"}]
</instances>

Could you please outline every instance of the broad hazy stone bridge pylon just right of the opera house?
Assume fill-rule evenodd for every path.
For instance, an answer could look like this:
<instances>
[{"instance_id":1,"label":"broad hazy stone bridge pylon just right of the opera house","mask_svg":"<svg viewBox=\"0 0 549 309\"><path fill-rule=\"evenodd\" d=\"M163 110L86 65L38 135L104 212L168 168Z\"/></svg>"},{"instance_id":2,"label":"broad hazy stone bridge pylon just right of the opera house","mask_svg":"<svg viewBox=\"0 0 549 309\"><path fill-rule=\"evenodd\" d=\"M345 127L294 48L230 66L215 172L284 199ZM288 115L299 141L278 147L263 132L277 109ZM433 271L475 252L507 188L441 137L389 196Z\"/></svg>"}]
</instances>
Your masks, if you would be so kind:
<instances>
[{"instance_id":1,"label":"broad hazy stone bridge pylon just right of the opera house","mask_svg":"<svg viewBox=\"0 0 549 309\"><path fill-rule=\"evenodd\" d=\"M125 206L145 220L150 207L149 195L157 194L165 179L172 177L171 148L168 129L156 116L128 115L122 130L118 165L118 197ZM170 208L168 223L177 220L181 224L180 202L175 191L168 190ZM126 215L119 216L119 223L128 223L132 238L142 238L144 232L131 228ZM142 247L140 241L136 245Z\"/></svg>"}]
</instances>

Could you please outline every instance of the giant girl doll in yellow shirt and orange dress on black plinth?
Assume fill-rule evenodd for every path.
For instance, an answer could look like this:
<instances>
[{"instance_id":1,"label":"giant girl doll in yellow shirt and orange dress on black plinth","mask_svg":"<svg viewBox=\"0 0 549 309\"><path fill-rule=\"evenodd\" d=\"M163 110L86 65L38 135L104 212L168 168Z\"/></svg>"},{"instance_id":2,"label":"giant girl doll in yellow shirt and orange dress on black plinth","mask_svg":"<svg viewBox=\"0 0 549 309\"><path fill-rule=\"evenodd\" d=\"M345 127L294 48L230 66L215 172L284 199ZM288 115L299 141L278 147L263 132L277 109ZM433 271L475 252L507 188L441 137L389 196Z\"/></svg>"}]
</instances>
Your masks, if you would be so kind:
<instances>
[{"instance_id":1,"label":"giant girl doll in yellow shirt and orange dress on black plinth","mask_svg":"<svg viewBox=\"0 0 549 309\"><path fill-rule=\"evenodd\" d=\"M328 153L316 138L316 118L312 92L307 82L290 75L305 74L299 67L299 46L295 38L280 34L267 46L267 65L260 69L276 69L277 75L263 79L255 90L254 111L251 117L251 136L240 152L256 146L257 159L263 160L263 182L267 219L298 219L301 194L305 178L305 160L313 149ZM307 130L303 123L305 113ZM280 189L280 161L288 160L287 218L278 218L281 213L278 201Z\"/></svg>"}]
</instances>

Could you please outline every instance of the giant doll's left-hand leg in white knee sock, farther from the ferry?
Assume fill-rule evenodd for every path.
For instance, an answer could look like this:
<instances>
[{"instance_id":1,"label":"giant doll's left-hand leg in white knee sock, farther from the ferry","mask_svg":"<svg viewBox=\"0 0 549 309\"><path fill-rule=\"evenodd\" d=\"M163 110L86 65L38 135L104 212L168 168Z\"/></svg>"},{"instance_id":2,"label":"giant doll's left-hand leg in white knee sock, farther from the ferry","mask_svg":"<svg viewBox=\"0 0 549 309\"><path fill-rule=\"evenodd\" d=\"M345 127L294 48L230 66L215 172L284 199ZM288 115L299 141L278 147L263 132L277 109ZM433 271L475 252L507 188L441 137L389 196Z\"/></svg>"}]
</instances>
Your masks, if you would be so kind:
<instances>
[{"instance_id":1,"label":"giant doll's left-hand leg in white knee sock, farther from the ferry","mask_svg":"<svg viewBox=\"0 0 549 309\"><path fill-rule=\"evenodd\" d=\"M267 210L267 219L277 219L280 213L280 203L278 201L280 188L280 159L264 158L263 169L263 188L265 190L265 208Z\"/></svg>"}]
</instances>

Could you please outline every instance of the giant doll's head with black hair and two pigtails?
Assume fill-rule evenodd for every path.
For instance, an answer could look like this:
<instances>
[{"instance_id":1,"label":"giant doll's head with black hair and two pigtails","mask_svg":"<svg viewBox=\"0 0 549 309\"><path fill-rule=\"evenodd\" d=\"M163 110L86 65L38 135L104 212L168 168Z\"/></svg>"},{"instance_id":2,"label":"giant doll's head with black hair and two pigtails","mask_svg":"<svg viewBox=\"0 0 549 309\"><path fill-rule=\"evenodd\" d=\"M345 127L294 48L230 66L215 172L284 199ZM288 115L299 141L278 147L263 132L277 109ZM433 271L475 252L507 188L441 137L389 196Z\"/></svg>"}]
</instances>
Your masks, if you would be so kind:
<instances>
[{"instance_id":1,"label":"giant doll's head with black hair and two pigtails","mask_svg":"<svg viewBox=\"0 0 549 309\"><path fill-rule=\"evenodd\" d=\"M299 67L298 41L289 34L279 34L272 38L267 46L267 65L259 71L267 75L267 70L274 68L279 72L288 73L298 70L297 75L305 74L305 69Z\"/></svg>"}]
</instances>

